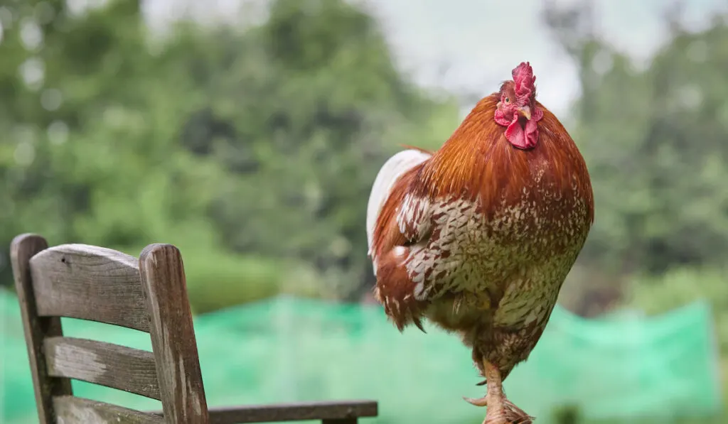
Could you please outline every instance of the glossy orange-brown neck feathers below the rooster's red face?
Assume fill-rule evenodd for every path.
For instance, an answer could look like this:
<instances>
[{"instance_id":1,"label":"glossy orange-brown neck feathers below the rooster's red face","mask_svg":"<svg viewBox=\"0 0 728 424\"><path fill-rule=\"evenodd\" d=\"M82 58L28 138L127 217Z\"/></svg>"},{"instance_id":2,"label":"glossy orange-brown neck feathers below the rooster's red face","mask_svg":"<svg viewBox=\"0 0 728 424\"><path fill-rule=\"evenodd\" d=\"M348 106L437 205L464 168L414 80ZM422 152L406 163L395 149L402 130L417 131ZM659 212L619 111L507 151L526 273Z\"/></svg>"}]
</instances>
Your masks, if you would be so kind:
<instances>
[{"instance_id":1,"label":"glossy orange-brown neck feathers below the rooster's red face","mask_svg":"<svg viewBox=\"0 0 728 424\"><path fill-rule=\"evenodd\" d=\"M586 165L574 141L540 103L539 143L524 151L505 137L505 127L494 121L498 95L480 100L453 135L419 170L411 187L430 199L475 199L486 208L502 200L517 201L534 185L555 191L576 189L592 197ZM574 186L576 185L576 186Z\"/></svg>"}]
</instances>

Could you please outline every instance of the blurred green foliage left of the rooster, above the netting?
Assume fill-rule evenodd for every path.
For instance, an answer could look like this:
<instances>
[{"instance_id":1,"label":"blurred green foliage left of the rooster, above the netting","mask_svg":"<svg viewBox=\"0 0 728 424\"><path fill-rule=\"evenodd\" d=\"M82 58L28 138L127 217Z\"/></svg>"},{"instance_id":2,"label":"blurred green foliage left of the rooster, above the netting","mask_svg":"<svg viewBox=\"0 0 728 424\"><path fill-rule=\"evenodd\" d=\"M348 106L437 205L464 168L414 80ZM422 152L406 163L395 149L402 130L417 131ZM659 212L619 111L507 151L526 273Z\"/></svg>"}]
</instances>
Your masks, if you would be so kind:
<instances>
[{"instance_id":1,"label":"blurred green foliage left of the rooster, above the netting","mask_svg":"<svg viewBox=\"0 0 728 424\"><path fill-rule=\"evenodd\" d=\"M137 1L1 10L2 284L10 239L33 231L132 255L177 244L199 312L281 291L357 297L378 167L456 124L345 1L275 1L261 25L180 23L163 40Z\"/></svg>"}]
</instances>

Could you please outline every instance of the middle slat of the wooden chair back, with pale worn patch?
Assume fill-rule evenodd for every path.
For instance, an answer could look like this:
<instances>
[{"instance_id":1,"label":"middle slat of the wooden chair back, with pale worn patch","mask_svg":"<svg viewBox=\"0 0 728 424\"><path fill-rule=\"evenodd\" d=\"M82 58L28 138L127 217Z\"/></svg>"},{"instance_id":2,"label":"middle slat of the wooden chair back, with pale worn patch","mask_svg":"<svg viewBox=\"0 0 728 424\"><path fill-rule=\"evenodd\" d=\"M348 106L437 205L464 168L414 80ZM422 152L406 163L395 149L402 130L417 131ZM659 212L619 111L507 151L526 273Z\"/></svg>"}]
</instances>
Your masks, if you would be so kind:
<instances>
[{"instance_id":1,"label":"middle slat of the wooden chair back, with pale worn patch","mask_svg":"<svg viewBox=\"0 0 728 424\"><path fill-rule=\"evenodd\" d=\"M73 337L45 340L48 374L159 397L154 353Z\"/></svg>"}]
</instances>

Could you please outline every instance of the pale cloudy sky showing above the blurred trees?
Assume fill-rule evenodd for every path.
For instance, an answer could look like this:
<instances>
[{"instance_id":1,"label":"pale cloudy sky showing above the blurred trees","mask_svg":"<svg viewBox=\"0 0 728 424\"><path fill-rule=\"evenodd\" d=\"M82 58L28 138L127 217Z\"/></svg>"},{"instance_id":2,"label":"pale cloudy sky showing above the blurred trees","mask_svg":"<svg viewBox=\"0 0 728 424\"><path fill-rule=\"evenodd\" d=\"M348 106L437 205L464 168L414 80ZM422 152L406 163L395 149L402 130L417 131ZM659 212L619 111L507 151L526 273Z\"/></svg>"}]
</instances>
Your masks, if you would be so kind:
<instances>
[{"instance_id":1,"label":"pale cloudy sky showing above the blurred trees","mask_svg":"<svg viewBox=\"0 0 728 424\"><path fill-rule=\"evenodd\" d=\"M147 0L145 10L152 25L164 25L185 11L214 22L239 16L243 7L261 1ZM353 1L378 17L398 65L419 84L488 95L518 63L529 61L539 100L557 115L579 95L574 63L541 22L545 0ZM591 1L596 31L636 64L645 63L665 42L662 14L672 0ZM688 0L682 19L697 30L719 10L728 12L728 1Z\"/></svg>"}]
</instances>

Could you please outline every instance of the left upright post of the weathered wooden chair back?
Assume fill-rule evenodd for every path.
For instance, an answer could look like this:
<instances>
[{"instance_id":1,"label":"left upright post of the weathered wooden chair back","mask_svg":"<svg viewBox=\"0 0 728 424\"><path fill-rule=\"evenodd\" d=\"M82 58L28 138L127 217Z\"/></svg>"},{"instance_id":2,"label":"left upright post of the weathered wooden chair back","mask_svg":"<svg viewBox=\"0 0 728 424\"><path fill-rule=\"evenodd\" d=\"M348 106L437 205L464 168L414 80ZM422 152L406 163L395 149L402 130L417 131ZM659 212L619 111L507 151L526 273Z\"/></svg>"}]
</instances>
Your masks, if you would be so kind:
<instances>
[{"instance_id":1,"label":"left upright post of the weathered wooden chair back","mask_svg":"<svg viewBox=\"0 0 728 424\"><path fill-rule=\"evenodd\" d=\"M52 396L70 395L71 380L67 378L49 378L46 372L46 361L43 353L45 337L63 335L58 317L38 316L36 296L33 293L33 279L30 261L48 244L41 236L22 234L15 237L10 245L10 261L15 278L17 300L20 303L20 314L23 317L25 345L28 348L28 359L33 377L33 389L36 395L39 422L52 423L54 417Z\"/></svg>"}]
</instances>

